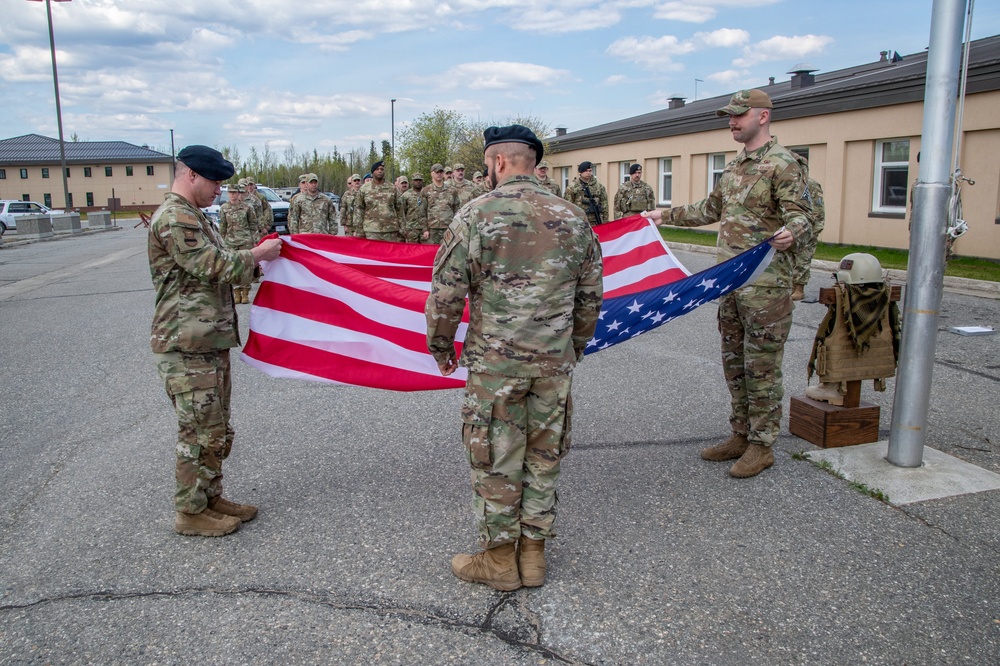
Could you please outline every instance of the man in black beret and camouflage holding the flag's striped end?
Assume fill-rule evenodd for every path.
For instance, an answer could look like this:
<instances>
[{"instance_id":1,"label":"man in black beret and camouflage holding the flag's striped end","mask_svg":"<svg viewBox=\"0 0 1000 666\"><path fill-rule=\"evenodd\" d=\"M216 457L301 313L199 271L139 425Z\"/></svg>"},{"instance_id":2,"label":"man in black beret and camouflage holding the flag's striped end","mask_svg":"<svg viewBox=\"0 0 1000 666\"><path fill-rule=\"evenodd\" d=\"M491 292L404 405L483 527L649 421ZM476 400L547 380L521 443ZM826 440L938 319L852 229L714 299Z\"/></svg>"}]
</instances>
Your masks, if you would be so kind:
<instances>
[{"instance_id":1,"label":"man in black beret and camouflage holding the flag's striped end","mask_svg":"<svg viewBox=\"0 0 1000 666\"><path fill-rule=\"evenodd\" d=\"M188 146L174 184L149 225L149 272L156 291L150 342L177 412L174 531L222 536L257 507L222 497L222 461L233 445L229 350L240 344L230 286L277 259L281 240L230 251L201 212L236 170L217 150Z\"/></svg>"}]
</instances>

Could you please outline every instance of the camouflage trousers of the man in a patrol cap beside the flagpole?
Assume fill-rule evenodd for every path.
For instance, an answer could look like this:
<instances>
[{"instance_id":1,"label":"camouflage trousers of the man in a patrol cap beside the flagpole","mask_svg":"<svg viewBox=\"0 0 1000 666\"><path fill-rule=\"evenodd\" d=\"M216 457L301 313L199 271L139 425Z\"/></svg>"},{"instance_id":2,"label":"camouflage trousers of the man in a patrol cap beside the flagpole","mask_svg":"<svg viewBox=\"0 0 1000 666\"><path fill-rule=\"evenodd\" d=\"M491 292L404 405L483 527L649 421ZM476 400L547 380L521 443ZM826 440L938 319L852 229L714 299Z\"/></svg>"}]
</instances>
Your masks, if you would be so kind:
<instances>
[{"instance_id":1,"label":"camouflage trousers of the man in a patrol cap beside the flagpole","mask_svg":"<svg viewBox=\"0 0 1000 666\"><path fill-rule=\"evenodd\" d=\"M719 300L722 369L734 433L771 446L781 431L781 360L792 328L791 289L744 287Z\"/></svg>"}]
</instances>

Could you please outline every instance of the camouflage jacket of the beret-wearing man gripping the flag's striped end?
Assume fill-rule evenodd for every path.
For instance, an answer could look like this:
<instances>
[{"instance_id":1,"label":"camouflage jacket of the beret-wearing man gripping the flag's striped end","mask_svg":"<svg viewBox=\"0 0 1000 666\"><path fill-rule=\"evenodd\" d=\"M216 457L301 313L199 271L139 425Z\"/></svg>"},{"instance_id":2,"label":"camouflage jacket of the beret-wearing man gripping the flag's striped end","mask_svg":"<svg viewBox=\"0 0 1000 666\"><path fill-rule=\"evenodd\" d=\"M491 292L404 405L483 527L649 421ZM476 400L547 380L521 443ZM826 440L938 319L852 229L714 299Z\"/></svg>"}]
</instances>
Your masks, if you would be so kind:
<instances>
[{"instance_id":1,"label":"camouflage jacket of the beret-wearing man gripping the flag's striped end","mask_svg":"<svg viewBox=\"0 0 1000 666\"><path fill-rule=\"evenodd\" d=\"M153 352L213 352L240 344L231 283L253 274L250 250L226 250L198 208L173 192L149 225L156 291Z\"/></svg>"}]
</instances>

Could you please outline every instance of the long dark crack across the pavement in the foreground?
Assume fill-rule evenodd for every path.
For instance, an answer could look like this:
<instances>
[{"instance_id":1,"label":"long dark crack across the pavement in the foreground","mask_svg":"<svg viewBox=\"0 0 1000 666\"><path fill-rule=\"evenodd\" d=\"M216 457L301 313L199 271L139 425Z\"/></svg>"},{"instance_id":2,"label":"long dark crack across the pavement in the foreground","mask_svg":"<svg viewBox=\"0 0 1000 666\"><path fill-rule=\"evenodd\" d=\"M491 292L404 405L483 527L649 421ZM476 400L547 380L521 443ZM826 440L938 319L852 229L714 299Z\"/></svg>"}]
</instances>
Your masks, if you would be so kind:
<instances>
[{"instance_id":1,"label":"long dark crack across the pavement in the foreground","mask_svg":"<svg viewBox=\"0 0 1000 666\"><path fill-rule=\"evenodd\" d=\"M183 597L197 597L202 595L220 596L256 596L256 597L283 597L294 599L307 604L326 606L335 610L359 611L370 613L384 618L403 619L416 622L425 626L436 626L444 629L454 629L461 632L475 632L492 635L507 645L526 650L541 656L553 659L563 664L572 666L591 666L588 662L573 659L559 654L552 648L548 648L541 643L542 628L541 618L527 607L527 601L523 595L516 592L496 592L498 596L496 602L487 611L486 616L480 623L470 622L455 617L439 615L432 611L421 608L407 606L393 606L380 603L365 603L360 601L341 602L330 595L320 595L302 590L284 590L267 587L244 587L244 588L214 588L214 587L192 587L180 588L171 591L147 591L147 592L114 592L111 590L100 590L93 592L79 592L58 597L44 597L23 604L3 604L0 605L0 613L26 610L72 601L129 601L133 599L178 599ZM509 611L509 612L508 612ZM511 622L509 620L515 620ZM508 620L508 621L504 621Z\"/></svg>"}]
</instances>

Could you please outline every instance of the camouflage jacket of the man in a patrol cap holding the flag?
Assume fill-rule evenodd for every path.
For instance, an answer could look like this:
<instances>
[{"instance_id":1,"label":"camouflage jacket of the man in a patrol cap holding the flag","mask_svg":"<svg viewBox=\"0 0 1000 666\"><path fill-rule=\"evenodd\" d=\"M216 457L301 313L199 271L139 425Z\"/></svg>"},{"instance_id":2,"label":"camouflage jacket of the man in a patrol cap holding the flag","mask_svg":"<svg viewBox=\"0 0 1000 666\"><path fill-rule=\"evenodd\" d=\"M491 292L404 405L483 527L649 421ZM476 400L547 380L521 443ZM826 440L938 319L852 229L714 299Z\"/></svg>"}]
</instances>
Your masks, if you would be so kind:
<instances>
[{"instance_id":1,"label":"camouflage jacket of the man in a patrol cap holding the flag","mask_svg":"<svg viewBox=\"0 0 1000 666\"><path fill-rule=\"evenodd\" d=\"M669 224L697 227L720 222L719 262L762 243L781 227L798 241L809 233L812 214L806 178L795 155L771 137L757 150L748 153L744 149L727 164L707 199L671 208ZM790 289L793 262L792 251L776 252L754 284Z\"/></svg>"}]
</instances>

